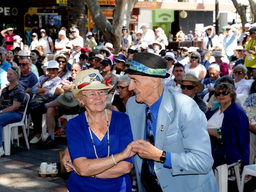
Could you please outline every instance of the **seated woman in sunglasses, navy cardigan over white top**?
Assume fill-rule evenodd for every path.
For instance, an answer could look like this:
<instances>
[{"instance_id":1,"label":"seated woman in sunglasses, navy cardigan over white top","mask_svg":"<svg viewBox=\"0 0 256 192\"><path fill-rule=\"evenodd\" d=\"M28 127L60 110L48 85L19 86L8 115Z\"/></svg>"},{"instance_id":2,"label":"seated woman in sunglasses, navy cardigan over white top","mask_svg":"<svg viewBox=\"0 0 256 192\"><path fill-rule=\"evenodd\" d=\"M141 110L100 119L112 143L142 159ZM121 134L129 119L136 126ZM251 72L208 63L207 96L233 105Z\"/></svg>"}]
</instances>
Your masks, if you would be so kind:
<instances>
[{"instance_id":1,"label":"seated woman in sunglasses, navy cardigan over white top","mask_svg":"<svg viewBox=\"0 0 256 192\"><path fill-rule=\"evenodd\" d=\"M249 164L249 121L243 109L235 103L236 92L230 83L221 83L215 89L220 106L206 112L211 140L213 170L223 164ZM239 178L240 179L240 178Z\"/></svg>"}]
</instances>

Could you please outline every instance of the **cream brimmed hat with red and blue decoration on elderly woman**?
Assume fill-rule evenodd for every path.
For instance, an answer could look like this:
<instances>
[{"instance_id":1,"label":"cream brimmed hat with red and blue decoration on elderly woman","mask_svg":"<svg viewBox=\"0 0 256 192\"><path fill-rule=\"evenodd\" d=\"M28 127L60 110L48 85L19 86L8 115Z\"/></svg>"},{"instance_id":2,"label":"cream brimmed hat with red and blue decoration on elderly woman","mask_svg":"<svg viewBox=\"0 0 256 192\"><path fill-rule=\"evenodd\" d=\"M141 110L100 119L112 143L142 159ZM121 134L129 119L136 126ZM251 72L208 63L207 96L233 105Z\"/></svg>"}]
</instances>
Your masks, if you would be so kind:
<instances>
[{"instance_id":1,"label":"cream brimmed hat with red and blue decoration on elderly woman","mask_svg":"<svg viewBox=\"0 0 256 192\"><path fill-rule=\"evenodd\" d=\"M74 89L71 89L71 92L77 94L82 90L101 90L112 87L113 85L107 84L97 69L88 69L80 71L76 75L76 85Z\"/></svg>"}]
</instances>

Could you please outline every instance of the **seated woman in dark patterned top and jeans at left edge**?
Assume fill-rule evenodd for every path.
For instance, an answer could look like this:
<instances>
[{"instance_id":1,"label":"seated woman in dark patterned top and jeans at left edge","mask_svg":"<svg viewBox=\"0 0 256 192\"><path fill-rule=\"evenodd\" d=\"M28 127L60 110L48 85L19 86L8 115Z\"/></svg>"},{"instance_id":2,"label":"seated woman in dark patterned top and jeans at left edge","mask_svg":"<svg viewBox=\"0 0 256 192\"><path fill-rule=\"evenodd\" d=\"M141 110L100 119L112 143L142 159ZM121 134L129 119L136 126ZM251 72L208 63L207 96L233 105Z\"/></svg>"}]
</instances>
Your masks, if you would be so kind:
<instances>
[{"instance_id":1,"label":"seated woman in dark patterned top and jeans at left edge","mask_svg":"<svg viewBox=\"0 0 256 192\"><path fill-rule=\"evenodd\" d=\"M0 157L4 155L2 146L3 127L20 122L26 107L26 93L19 84L20 68L11 66L7 72L10 85L2 90L0 97Z\"/></svg>"}]
</instances>

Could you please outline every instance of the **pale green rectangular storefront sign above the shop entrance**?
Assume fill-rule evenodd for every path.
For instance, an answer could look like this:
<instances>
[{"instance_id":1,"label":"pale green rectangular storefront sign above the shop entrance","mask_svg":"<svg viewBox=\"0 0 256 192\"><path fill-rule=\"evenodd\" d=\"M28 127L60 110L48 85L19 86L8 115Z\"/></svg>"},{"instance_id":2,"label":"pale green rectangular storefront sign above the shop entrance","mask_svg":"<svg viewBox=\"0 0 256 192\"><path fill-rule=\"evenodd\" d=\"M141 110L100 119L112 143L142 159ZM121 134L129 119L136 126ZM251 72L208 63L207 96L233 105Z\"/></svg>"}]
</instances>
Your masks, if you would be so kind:
<instances>
[{"instance_id":1,"label":"pale green rectangular storefront sign above the shop entrance","mask_svg":"<svg viewBox=\"0 0 256 192\"><path fill-rule=\"evenodd\" d=\"M174 10L154 10L154 22L174 22Z\"/></svg>"}]
</instances>

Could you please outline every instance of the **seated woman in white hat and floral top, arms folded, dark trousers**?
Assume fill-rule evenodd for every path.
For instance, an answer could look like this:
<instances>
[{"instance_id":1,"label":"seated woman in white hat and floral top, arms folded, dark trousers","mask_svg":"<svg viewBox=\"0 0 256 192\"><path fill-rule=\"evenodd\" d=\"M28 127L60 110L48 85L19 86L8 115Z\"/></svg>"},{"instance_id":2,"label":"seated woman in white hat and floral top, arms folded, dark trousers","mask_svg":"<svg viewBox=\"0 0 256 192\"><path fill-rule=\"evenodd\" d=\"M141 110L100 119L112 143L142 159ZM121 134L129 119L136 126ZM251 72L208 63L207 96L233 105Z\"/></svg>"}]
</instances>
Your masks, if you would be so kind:
<instances>
[{"instance_id":1,"label":"seated woman in white hat and floral top, arms folded, dark trousers","mask_svg":"<svg viewBox=\"0 0 256 192\"><path fill-rule=\"evenodd\" d=\"M42 114L46 113L46 109L38 107L42 103L52 101L56 95L55 90L58 87L61 78L58 77L58 72L61 71L57 61L49 61L48 66L44 70L48 70L50 76L40 78L40 81L32 87L32 93L36 94L29 105L29 111L34 124L34 137L30 143L37 143L41 139L42 133Z\"/></svg>"}]
</instances>

